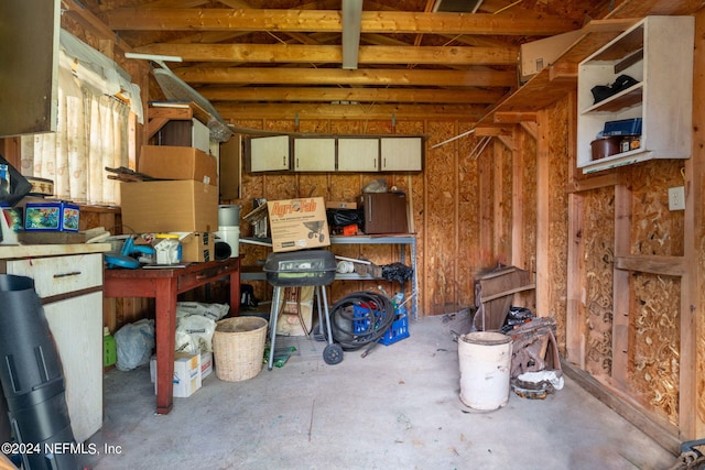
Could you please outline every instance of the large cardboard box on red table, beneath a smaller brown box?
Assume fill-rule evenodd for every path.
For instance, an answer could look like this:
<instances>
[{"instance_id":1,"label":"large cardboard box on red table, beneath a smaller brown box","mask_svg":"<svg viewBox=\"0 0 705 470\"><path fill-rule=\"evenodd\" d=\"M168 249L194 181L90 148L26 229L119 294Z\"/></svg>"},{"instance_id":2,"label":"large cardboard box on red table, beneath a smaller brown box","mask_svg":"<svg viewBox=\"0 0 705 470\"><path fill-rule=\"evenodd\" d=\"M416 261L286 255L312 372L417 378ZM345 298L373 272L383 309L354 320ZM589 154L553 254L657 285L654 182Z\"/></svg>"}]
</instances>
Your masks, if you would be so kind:
<instances>
[{"instance_id":1,"label":"large cardboard box on red table, beneath a smaller brown box","mask_svg":"<svg viewBox=\"0 0 705 470\"><path fill-rule=\"evenodd\" d=\"M193 179L121 183L126 233L212 232L218 229L218 187Z\"/></svg>"}]
</instances>

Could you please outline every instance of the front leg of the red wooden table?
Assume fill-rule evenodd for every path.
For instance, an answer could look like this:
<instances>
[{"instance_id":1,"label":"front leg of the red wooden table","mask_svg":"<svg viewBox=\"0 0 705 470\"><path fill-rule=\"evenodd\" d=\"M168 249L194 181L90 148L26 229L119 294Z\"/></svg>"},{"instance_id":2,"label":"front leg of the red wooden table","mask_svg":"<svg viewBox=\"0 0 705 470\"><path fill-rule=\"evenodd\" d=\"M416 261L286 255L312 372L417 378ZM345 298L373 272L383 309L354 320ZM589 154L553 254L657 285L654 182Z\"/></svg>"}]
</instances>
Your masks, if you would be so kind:
<instances>
[{"instance_id":1,"label":"front leg of the red wooden table","mask_svg":"<svg viewBox=\"0 0 705 470\"><path fill-rule=\"evenodd\" d=\"M172 409L176 335L176 280L156 280L156 413Z\"/></svg>"}]
</instances>

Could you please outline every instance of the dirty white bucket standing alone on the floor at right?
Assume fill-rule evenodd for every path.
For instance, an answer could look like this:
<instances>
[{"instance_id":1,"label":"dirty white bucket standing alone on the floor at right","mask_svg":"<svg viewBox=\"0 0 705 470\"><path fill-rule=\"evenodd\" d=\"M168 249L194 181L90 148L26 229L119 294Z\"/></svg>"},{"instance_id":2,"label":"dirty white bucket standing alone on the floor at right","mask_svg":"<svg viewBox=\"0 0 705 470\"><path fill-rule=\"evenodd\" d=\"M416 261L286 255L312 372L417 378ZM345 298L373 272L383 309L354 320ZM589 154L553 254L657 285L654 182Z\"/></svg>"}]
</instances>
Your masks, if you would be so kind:
<instances>
[{"instance_id":1,"label":"dirty white bucket standing alone on the floor at right","mask_svg":"<svg viewBox=\"0 0 705 470\"><path fill-rule=\"evenodd\" d=\"M512 339L492 331L458 338L460 401L470 408L491 411L509 401Z\"/></svg>"}]
</instances>

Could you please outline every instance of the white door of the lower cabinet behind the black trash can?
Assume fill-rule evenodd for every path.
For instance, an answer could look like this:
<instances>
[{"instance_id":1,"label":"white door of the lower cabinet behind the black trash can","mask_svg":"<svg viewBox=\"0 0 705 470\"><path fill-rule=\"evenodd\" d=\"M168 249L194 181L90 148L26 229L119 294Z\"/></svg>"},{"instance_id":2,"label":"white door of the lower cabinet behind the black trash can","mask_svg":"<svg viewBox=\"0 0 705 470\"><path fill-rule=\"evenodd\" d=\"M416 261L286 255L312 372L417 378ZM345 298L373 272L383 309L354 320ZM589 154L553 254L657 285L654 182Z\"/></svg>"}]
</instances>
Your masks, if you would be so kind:
<instances>
[{"instance_id":1,"label":"white door of the lower cabinet behind the black trash can","mask_svg":"<svg viewBox=\"0 0 705 470\"><path fill-rule=\"evenodd\" d=\"M83 442L102 426L102 292L47 304L44 315L64 369L70 427Z\"/></svg>"}]
</instances>

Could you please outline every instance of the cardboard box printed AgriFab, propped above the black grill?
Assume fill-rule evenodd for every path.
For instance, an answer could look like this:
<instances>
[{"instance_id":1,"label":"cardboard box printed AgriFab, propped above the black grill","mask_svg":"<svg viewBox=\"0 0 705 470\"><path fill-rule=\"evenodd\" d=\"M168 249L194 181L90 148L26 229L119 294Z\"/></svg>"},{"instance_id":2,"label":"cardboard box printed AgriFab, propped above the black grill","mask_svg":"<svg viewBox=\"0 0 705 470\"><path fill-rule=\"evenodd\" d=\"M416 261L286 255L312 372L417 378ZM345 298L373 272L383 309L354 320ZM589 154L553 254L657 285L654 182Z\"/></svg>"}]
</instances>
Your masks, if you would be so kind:
<instances>
[{"instance_id":1,"label":"cardboard box printed AgriFab, propped above the black grill","mask_svg":"<svg viewBox=\"0 0 705 470\"><path fill-rule=\"evenodd\" d=\"M296 251L328 247L330 232L322 197L271 200L267 203L272 233L272 251Z\"/></svg>"}]
</instances>

